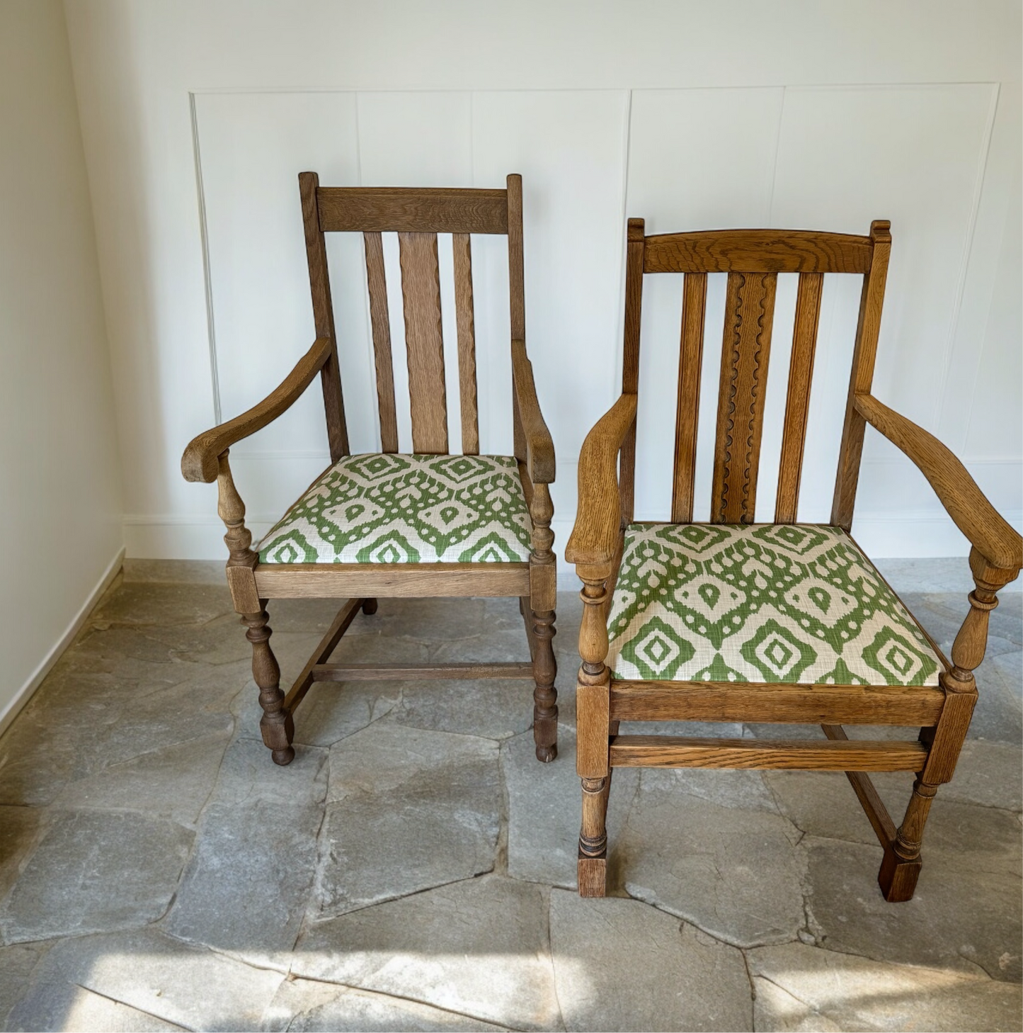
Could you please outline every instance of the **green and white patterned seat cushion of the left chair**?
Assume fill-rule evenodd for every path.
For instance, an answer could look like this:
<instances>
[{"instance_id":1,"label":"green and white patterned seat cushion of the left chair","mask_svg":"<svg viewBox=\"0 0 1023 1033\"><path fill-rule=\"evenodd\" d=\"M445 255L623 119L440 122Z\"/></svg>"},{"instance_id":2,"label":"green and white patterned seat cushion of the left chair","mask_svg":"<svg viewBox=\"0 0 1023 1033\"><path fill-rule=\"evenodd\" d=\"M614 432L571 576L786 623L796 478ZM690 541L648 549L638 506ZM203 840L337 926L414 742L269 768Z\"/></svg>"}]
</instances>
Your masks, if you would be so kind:
<instances>
[{"instance_id":1,"label":"green and white patterned seat cushion of the left chair","mask_svg":"<svg viewBox=\"0 0 1023 1033\"><path fill-rule=\"evenodd\" d=\"M259 545L260 563L523 563L510 456L346 456Z\"/></svg>"}]
</instances>

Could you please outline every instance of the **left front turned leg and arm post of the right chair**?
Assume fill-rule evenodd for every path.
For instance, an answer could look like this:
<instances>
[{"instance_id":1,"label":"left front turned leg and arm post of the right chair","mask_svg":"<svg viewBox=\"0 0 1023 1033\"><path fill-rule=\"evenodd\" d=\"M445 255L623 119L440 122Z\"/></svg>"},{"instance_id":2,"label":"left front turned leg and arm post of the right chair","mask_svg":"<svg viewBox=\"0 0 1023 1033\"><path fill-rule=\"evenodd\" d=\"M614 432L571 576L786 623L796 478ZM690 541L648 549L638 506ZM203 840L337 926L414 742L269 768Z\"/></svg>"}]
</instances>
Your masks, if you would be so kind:
<instances>
[{"instance_id":1,"label":"left front turned leg and arm post of the right chair","mask_svg":"<svg viewBox=\"0 0 1023 1033\"><path fill-rule=\"evenodd\" d=\"M576 771L582 780L582 826L579 831L579 896L603 897L607 887L607 794L610 765L610 671L607 657L606 575L584 578L579 655L582 665L576 689L578 744Z\"/></svg>"}]
</instances>

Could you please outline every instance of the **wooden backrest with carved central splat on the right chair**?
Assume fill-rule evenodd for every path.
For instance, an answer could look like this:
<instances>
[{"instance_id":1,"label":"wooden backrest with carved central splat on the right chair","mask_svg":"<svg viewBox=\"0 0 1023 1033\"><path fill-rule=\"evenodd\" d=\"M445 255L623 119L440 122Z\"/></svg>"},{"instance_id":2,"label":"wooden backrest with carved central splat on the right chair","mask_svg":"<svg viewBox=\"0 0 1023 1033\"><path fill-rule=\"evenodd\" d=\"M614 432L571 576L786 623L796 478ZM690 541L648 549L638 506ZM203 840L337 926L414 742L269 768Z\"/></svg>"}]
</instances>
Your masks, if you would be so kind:
<instances>
[{"instance_id":1,"label":"wooden backrest with carved central splat on the right chair","mask_svg":"<svg viewBox=\"0 0 1023 1033\"><path fill-rule=\"evenodd\" d=\"M728 274L710 512L714 524L754 521L777 274L799 274L774 518L776 523L792 524L799 501L824 276L858 273L863 275L863 293L831 514L833 524L849 529L865 426L851 400L854 393L868 392L873 378L890 248L889 223L884 221L871 223L868 237L780 229L646 237L642 219L629 220L622 392L636 394L639 385L643 275L684 274L672 522L693 520L707 274ZM633 519L635 467L633 426L621 451L622 516L627 523Z\"/></svg>"}]
</instances>

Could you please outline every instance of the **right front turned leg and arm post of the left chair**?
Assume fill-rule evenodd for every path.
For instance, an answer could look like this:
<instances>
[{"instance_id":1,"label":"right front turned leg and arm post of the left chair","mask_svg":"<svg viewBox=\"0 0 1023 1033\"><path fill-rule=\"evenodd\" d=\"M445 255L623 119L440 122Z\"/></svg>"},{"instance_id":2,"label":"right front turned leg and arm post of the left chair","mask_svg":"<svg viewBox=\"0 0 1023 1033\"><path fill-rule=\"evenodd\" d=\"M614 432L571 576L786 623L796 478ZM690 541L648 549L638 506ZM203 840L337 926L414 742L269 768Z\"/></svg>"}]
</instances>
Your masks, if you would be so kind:
<instances>
[{"instance_id":1,"label":"right front turned leg and arm post of the left chair","mask_svg":"<svg viewBox=\"0 0 1023 1033\"><path fill-rule=\"evenodd\" d=\"M530 606L533 617L533 740L537 759L557 756L557 661L554 659L554 606L557 599L557 569L551 546L554 533L550 520L554 507L546 484L534 484L530 499L533 522L533 552L530 555ZM526 617L529 619L529 617Z\"/></svg>"}]
</instances>

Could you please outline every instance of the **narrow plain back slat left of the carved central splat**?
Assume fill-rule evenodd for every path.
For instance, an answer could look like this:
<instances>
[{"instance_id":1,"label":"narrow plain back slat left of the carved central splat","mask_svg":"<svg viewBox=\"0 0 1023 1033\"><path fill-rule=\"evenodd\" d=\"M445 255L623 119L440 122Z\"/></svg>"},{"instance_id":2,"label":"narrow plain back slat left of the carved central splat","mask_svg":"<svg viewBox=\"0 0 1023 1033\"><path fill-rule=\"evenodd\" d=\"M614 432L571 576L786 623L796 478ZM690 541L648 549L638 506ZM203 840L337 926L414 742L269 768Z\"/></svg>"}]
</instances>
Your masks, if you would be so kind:
<instances>
[{"instance_id":1,"label":"narrow plain back slat left of the carved central splat","mask_svg":"<svg viewBox=\"0 0 1023 1033\"><path fill-rule=\"evenodd\" d=\"M707 274L688 273L682 288L682 332L678 355L678 401L675 413L675 473L671 489L671 520L693 520L696 477L696 430L700 414L700 372L703 326L707 311Z\"/></svg>"}]
</instances>

